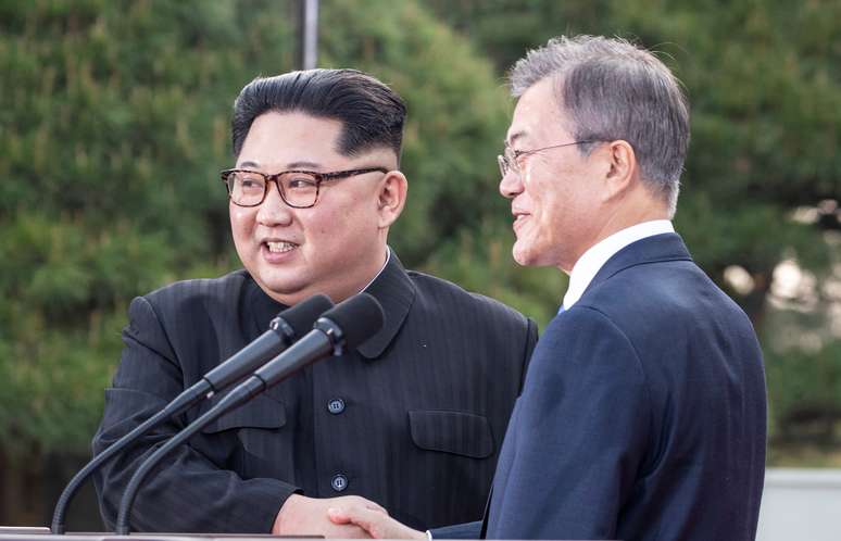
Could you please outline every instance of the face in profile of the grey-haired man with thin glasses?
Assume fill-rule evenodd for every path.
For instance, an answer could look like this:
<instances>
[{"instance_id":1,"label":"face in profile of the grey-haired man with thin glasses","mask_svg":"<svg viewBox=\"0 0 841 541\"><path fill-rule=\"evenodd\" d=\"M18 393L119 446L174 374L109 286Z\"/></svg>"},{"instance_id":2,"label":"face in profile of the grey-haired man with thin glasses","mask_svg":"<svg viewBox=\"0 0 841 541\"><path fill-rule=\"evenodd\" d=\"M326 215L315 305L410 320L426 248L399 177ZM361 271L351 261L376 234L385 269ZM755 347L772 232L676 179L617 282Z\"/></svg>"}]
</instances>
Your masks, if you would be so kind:
<instances>
[{"instance_id":1,"label":"face in profile of the grey-haired man with thin glasses","mask_svg":"<svg viewBox=\"0 0 841 541\"><path fill-rule=\"evenodd\" d=\"M517 102L507 144L529 151L574 142L556 103L553 79L529 88ZM520 156L520 172L510 171L502 178L500 193L511 199L515 218L512 251L517 263L569 273L600 239L607 166L601 154L599 148L589 156L581 155L577 146L548 149Z\"/></svg>"}]
</instances>

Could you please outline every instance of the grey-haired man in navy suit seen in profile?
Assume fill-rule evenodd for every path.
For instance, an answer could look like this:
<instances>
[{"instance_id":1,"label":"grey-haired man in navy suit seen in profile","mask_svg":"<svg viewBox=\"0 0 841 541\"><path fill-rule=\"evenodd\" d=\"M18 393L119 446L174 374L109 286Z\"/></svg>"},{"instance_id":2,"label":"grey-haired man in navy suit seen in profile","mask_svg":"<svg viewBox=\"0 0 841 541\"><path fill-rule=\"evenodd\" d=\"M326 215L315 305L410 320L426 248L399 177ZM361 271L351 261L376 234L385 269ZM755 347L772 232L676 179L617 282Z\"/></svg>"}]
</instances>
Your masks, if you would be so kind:
<instances>
[{"instance_id":1,"label":"grey-haired man in navy suit seen in profile","mask_svg":"<svg viewBox=\"0 0 841 541\"><path fill-rule=\"evenodd\" d=\"M500 156L514 259L570 275L512 414L485 524L438 538L749 541L765 469L762 354L670 218L689 142L677 80L620 39L512 71ZM353 502L375 537L418 538Z\"/></svg>"}]
</instances>

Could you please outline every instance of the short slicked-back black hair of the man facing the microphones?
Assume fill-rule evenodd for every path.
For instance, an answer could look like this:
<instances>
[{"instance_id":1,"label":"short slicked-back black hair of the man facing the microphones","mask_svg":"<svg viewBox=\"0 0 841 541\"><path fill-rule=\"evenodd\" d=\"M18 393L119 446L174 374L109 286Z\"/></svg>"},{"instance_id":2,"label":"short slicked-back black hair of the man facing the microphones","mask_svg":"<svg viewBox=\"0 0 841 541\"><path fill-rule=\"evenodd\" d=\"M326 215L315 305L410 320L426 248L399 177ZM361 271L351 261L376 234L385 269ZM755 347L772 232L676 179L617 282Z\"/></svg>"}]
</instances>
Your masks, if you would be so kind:
<instances>
[{"instance_id":1,"label":"short slicked-back black hair of the man facing the microphones","mask_svg":"<svg viewBox=\"0 0 841 541\"><path fill-rule=\"evenodd\" d=\"M356 70L289 72L246 85L234 102L230 122L235 156L254 118L268 111L300 111L340 121L337 151L341 154L387 147L400 159L406 106L384 83Z\"/></svg>"}]
</instances>

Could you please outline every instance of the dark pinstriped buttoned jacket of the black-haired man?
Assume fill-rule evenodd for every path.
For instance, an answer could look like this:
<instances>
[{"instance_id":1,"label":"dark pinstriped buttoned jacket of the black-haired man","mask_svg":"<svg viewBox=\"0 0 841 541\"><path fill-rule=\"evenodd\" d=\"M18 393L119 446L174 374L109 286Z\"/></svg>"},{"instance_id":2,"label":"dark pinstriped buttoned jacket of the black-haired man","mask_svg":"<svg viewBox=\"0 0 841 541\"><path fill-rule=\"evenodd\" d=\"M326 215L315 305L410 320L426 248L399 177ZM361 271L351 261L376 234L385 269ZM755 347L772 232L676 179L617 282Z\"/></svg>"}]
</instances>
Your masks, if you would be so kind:
<instances>
[{"instance_id":1,"label":"dark pinstriped buttoned jacket of the black-haired man","mask_svg":"<svg viewBox=\"0 0 841 541\"><path fill-rule=\"evenodd\" d=\"M386 312L382 330L357 352L316 363L223 416L174 453L139 492L135 529L267 533L293 492L360 494L418 528L481 516L537 338L534 323L407 273L393 253L367 291ZM244 270L135 299L95 452L265 331L283 309ZM152 446L210 406L164 425L101 470L95 480L109 526Z\"/></svg>"}]
</instances>

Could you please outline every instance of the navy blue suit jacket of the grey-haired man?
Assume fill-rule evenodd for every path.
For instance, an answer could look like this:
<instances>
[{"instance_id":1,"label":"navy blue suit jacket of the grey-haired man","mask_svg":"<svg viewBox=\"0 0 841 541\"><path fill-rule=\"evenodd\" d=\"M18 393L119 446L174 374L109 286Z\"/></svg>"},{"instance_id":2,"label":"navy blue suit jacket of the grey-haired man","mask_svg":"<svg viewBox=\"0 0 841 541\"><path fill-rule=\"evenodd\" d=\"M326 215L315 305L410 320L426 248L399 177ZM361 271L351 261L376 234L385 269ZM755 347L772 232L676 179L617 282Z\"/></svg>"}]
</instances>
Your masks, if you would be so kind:
<instances>
[{"instance_id":1,"label":"navy blue suit jacket of the grey-haired man","mask_svg":"<svg viewBox=\"0 0 841 541\"><path fill-rule=\"evenodd\" d=\"M535 350L487 538L753 540L765 417L748 316L677 235L633 242Z\"/></svg>"}]
</instances>

